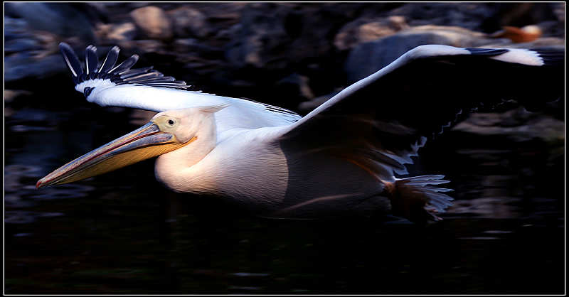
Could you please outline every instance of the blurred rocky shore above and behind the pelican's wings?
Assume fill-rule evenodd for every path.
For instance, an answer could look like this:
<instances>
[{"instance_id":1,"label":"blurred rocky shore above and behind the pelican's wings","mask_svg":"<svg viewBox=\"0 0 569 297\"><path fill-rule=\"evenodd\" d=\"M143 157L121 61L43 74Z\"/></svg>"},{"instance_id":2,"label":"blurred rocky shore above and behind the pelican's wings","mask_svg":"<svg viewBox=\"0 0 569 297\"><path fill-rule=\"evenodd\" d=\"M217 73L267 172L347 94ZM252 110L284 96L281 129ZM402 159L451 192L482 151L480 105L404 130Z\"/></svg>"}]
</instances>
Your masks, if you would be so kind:
<instances>
[{"instance_id":1,"label":"blurred rocky shore above and behind the pelican's wings","mask_svg":"<svg viewBox=\"0 0 569 297\"><path fill-rule=\"evenodd\" d=\"M564 48L564 11L563 3L7 3L5 114L26 97L73 94L61 41L80 55L91 43L100 55L119 45L123 58L137 53L138 67L154 65L193 90L304 114L418 45Z\"/></svg>"}]
</instances>

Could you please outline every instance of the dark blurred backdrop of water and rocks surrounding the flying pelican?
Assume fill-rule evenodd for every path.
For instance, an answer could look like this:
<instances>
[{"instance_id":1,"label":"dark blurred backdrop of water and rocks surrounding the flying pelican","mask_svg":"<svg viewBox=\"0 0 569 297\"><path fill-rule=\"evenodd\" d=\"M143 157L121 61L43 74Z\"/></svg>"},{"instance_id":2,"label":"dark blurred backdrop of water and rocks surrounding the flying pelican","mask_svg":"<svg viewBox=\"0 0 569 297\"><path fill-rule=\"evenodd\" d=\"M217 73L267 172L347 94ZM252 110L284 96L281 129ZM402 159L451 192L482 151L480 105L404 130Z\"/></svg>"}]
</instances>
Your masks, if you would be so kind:
<instances>
[{"instance_id":1,"label":"dark blurred backdrop of water and rocks surrounding the flying pelican","mask_svg":"<svg viewBox=\"0 0 569 297\"><path fill-rule=\"evenodd\" d=\"M61 41L80 55L119 45L121 60L137 53L137 67L193 90L306 114L418 45L564 48L564 13L563 3L4 4L4 293L563 293L564 99L474 114L422 148L412 173L447 175L456 199L427 226L260 219L170 193L151 160L35 183L152 115L86 102ZM541 34L519 31L530 25Z\"/></svg>"}]
</instances>

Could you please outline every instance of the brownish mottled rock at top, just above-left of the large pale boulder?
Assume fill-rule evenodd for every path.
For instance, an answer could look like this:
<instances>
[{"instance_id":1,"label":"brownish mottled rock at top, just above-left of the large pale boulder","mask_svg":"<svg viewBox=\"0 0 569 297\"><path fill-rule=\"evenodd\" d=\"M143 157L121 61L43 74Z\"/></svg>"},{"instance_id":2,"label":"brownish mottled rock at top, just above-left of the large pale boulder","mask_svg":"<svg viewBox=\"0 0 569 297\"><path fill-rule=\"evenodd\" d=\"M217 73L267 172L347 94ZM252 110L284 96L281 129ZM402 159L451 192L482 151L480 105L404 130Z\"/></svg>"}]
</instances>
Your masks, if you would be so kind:
<instances>
[{"instance_id":1,"label":"brownish mottled rock at top, just above-left of the large pale boulder","mask_svg":"<svg viewBox=\"0 0 569 297\"><path fill-rule=\"evenodd\" d=\"M405 28L409 28L409 26L403 16L389 16L375 21L358 18L358 20L347 23L341 28L334 38L334 45L339 50L347 50L360 43L393 35Z\"/></svg>"}]
</instances>

